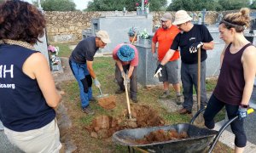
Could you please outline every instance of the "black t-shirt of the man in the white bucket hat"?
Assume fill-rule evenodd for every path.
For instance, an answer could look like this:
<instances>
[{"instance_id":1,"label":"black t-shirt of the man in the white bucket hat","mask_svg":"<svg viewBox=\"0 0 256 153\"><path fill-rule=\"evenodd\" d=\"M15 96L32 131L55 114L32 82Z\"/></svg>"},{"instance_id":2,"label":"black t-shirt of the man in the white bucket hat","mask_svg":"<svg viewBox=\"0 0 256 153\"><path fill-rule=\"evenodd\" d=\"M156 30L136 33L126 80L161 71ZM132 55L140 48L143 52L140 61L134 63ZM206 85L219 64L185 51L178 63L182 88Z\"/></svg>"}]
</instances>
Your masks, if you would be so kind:
<instances>
[{"instance_id":1,"label":"black t-shirt of the man in the white bucket hat","mask_svg":"<svg viewBox=\"0 0 256 153\"><path fill-rule=\"evenodd\" d=\"M189 47L195 42L212 42L212 36L204 25L194 25L190 31L183 31L177 34L172 42L171 49L177 50L180 47L180 54L183 63L196 64L197 53L190 53ZM201 62L207 59L207 51L201 48Z\"/></svg>"}]
</instances>

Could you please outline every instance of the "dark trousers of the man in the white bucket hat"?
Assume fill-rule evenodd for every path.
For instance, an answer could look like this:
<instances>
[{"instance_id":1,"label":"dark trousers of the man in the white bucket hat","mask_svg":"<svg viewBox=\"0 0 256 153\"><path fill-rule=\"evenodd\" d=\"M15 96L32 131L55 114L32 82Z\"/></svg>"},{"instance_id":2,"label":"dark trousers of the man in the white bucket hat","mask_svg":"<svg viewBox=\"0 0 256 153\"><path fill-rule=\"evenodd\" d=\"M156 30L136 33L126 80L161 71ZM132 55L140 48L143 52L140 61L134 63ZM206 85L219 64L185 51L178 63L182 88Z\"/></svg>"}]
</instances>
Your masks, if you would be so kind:
<instances>
[{"instance_id":1,"label":"dark trousers of the man in the white bucket hat","mask_svg":"<svg viewBox=\"0 0 256 153\"><path fill-rule=\"evenodd\" d=\"M206 89L206 61L201 62L201 107L207 105L207 89ZM193 85L197 93L197 64L188 65L182 62L181 80L183 83L183 108L192 111L193 107Z\"/></svg>"}]
</instances>

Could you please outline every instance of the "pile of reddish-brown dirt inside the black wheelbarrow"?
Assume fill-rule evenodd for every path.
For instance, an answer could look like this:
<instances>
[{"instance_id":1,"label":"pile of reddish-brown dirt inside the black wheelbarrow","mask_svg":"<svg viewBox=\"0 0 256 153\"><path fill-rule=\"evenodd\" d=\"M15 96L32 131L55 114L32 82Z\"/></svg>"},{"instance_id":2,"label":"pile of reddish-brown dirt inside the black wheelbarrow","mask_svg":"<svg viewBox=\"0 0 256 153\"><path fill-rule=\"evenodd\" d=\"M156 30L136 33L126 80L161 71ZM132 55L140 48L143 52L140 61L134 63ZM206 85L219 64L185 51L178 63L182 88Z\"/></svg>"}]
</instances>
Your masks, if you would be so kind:
<instances>
[{"instance_id":1,"label":"pile of reddish-brown dirt inside the black wheelbarrow","mask_svg":"<svg viewBox=\"0 0 256 153\"><path fill-rule=\"evenodd\" d=\"M186 139L188 137L188 133L184 131L181 133L177 133L177 131L174 129L168 131L160 129L153 131L148 135L145 135L143 139L136 139L135 141L137 142L137 144L152 144L162 141Z\"/></svg>"}]
</instances>

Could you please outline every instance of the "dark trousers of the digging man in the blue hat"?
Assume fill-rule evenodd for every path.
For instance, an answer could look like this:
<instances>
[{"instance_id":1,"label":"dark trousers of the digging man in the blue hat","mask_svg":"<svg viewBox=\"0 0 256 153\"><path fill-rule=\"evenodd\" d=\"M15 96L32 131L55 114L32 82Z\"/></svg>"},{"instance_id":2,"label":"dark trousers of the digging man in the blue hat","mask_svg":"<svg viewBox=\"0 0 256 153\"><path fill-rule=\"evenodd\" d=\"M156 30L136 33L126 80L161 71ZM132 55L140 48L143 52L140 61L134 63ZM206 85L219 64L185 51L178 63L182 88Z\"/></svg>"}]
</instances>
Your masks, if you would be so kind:
<instances>
[{"instance_id":1,"label":"dark trousers of the digging man in the blue hat","mask_svg":"<svg viewBox=\"0 0 256 153\"><path fill-rule=\"evenodd\" d=\"M125 73L128 73L130 65L123 65ZM115 78L121 90L125 90L124 78L121 75L118 65L115 65ZM134 67L130 78L130 94L131 98L137 98L137 66Z\"/></svg>"}]
</instances>

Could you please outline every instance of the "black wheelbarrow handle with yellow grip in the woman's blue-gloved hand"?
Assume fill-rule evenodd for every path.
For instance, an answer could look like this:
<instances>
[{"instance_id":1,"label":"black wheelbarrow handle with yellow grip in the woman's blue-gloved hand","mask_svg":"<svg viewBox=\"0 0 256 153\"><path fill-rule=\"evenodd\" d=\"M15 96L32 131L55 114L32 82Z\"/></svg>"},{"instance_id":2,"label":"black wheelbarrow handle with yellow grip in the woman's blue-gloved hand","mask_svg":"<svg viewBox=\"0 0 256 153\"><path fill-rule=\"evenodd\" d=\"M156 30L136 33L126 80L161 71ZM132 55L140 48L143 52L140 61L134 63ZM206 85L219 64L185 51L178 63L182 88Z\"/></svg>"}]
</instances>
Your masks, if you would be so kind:
<instances>
[{"instance_id":1,"label":"black wheelbarrow handle with yellow grip in the woman's blue-gloved hand","mask_svg":"<svg viewBox=\"0 0 256 153\"><path fill-rule=\"evenodd\" d=\"M250 108L250 109L247 110L247 114L251 114L251 113L253 113L253 111L254 111L253 108ZM226 127L230 126L230 124L231 124L232 122L234 122L237 118L238 118L238 116L235 116L235 117L231 118L228 122L225 122L224 125L218 130L218 135L217 135L217 136L214 138L214 140L212 141L212 144L210 145L210 148L209 148L209 150L208 150L208 153L211 153L211 152L212 152L212 150L213 150L215 144L217 143L217 141L218 141L220 135L224 132L224 130L226 129Z\"/></svg>"}]
</instances>

